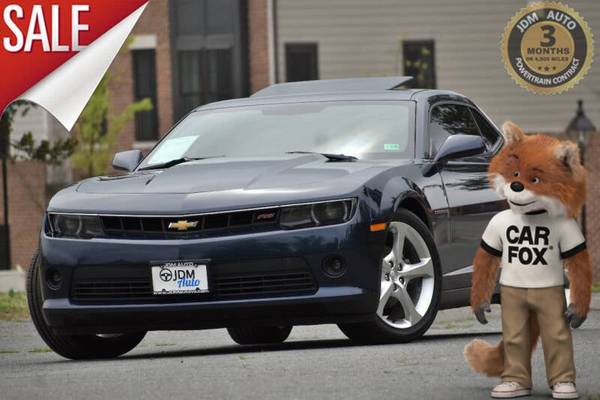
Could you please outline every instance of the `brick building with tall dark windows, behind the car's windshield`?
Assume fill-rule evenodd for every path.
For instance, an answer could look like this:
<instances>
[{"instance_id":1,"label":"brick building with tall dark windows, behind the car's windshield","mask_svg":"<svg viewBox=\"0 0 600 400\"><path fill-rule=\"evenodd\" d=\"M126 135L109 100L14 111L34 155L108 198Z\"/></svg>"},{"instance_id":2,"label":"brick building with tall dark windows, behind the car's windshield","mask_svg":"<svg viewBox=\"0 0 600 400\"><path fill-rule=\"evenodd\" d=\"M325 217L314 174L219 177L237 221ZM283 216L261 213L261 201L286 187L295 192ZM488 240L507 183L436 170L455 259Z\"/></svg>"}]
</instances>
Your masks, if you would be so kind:
<instances>
[{"instance_id":1,"label":"brick building with tall dark windows, behind the car's windshield","mask_svg":"<svg viewBox=\"0 0 600 400\"><path fill-rule=\"evenodd\" d=\"M248 96L272 82L268 0L151 1L109 72L111 108L150 97L118 148L147 150L194 107Z\"/></svg>"}]
</instances>

